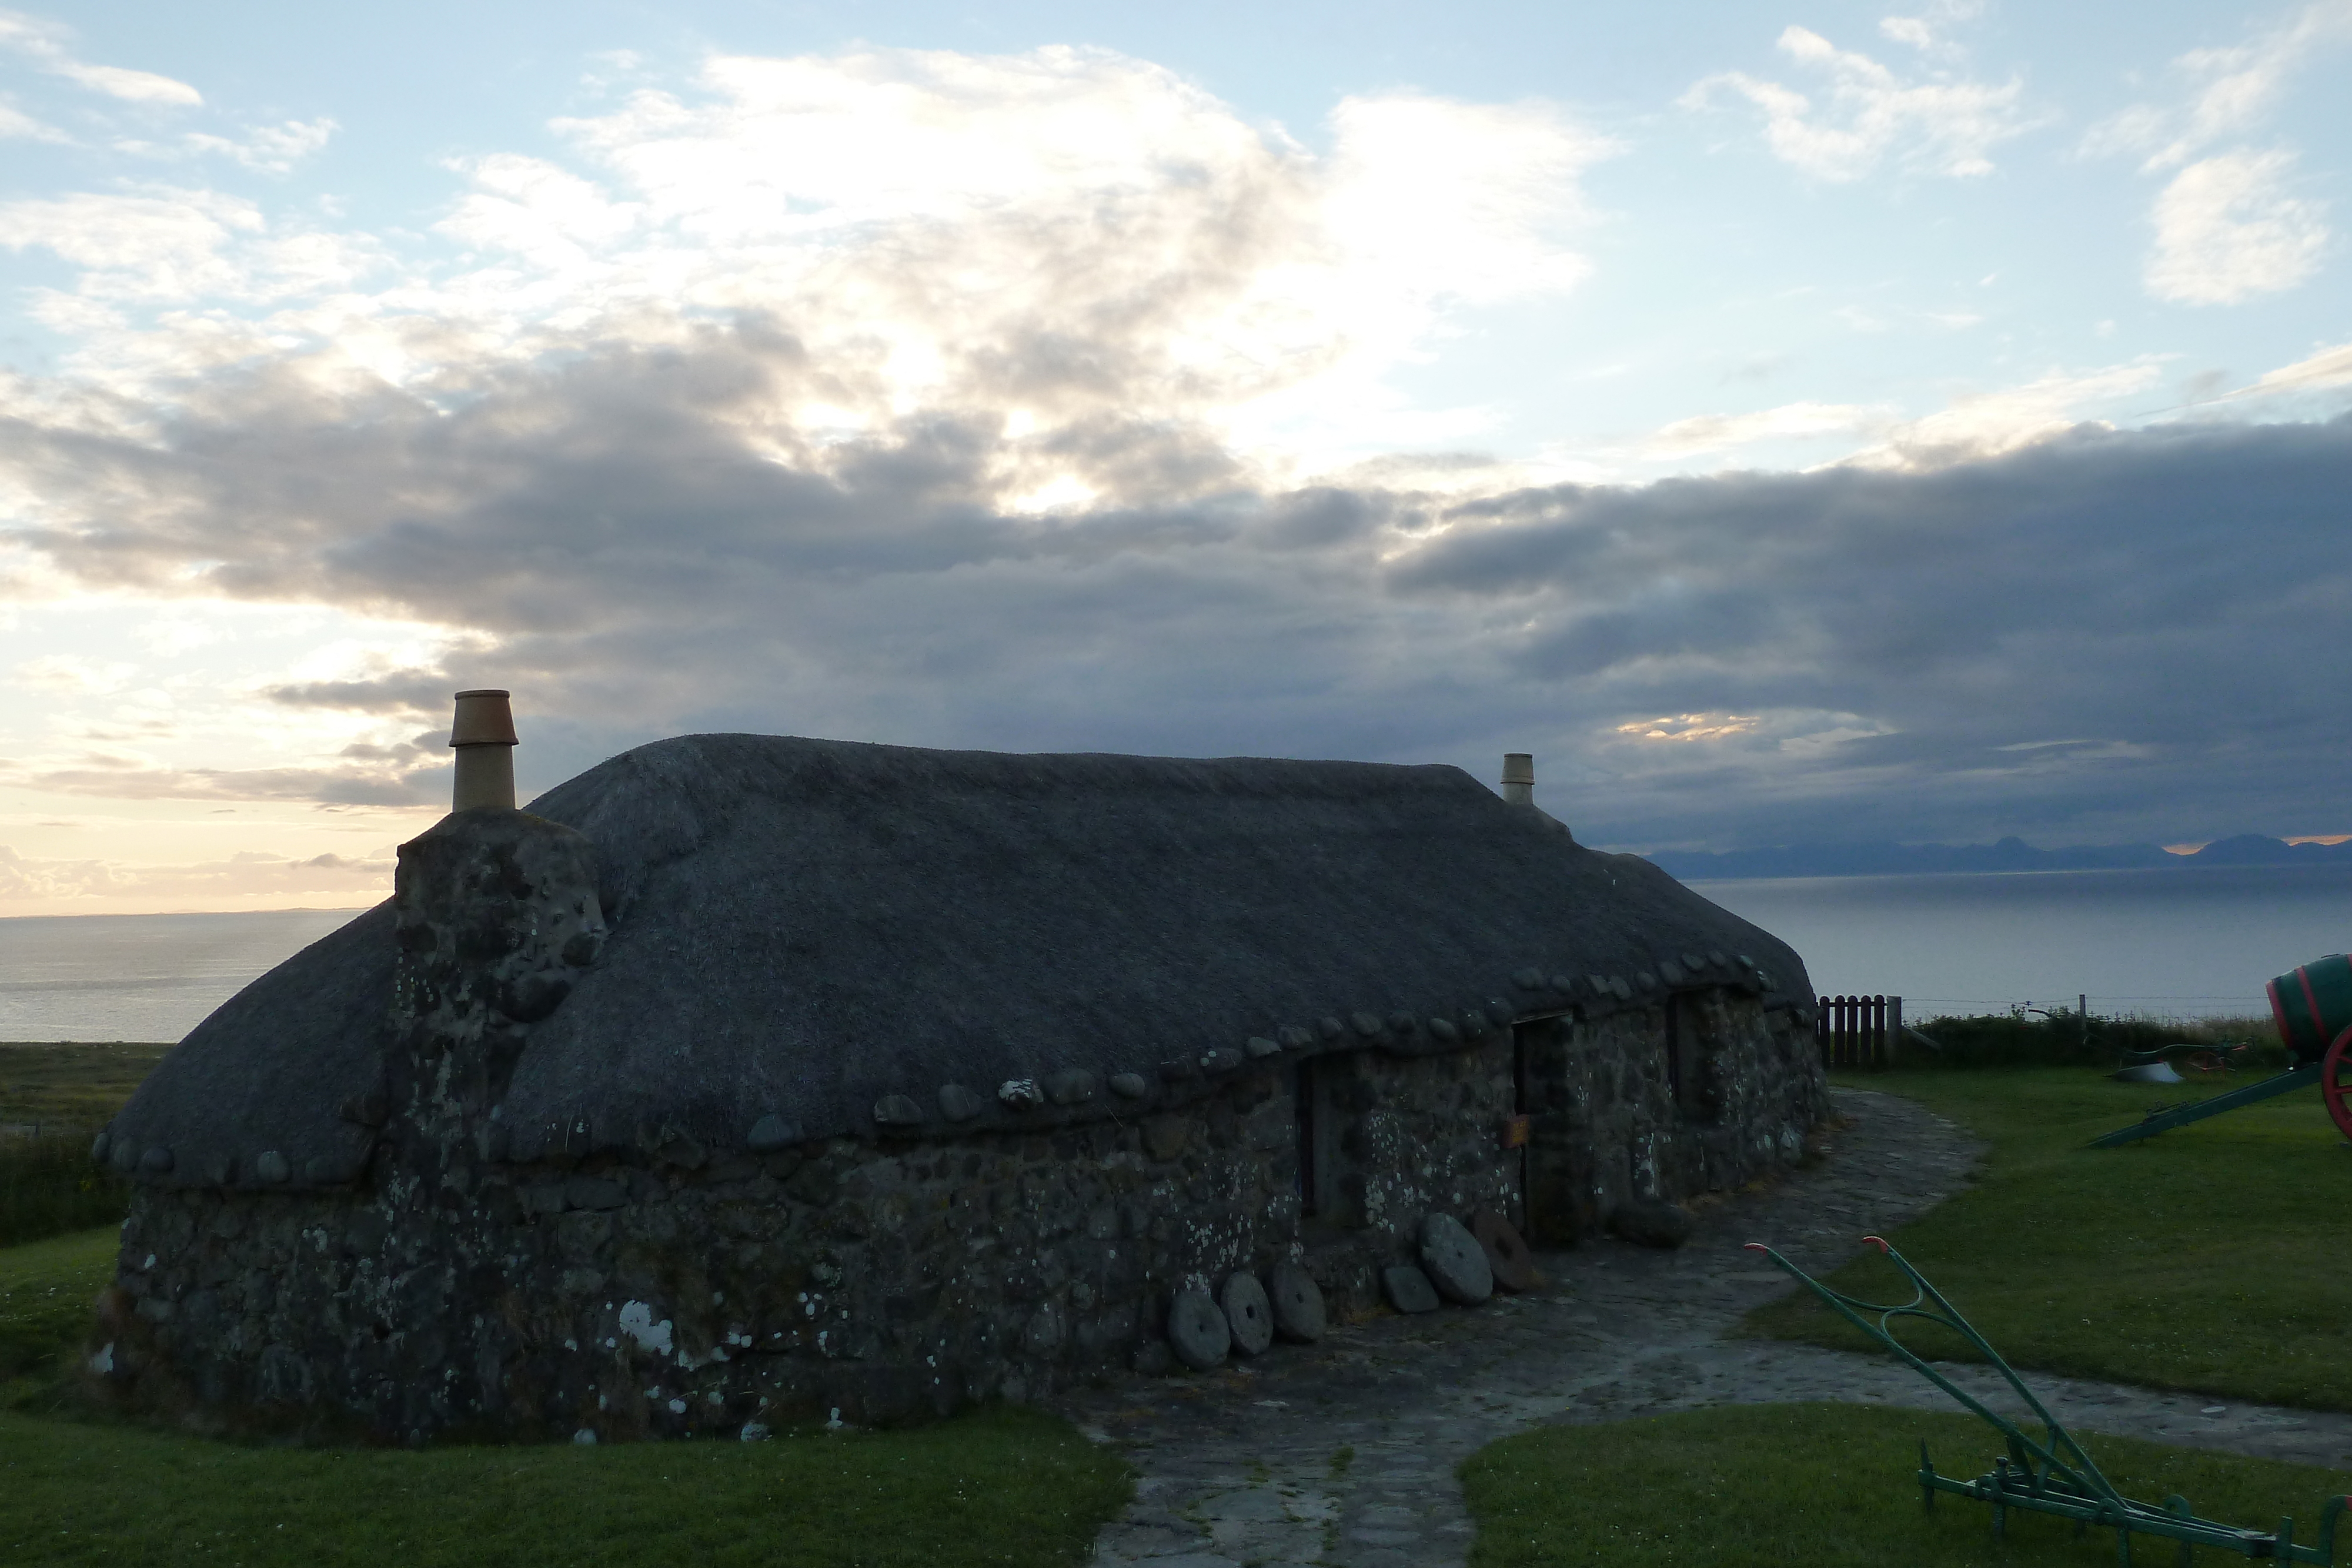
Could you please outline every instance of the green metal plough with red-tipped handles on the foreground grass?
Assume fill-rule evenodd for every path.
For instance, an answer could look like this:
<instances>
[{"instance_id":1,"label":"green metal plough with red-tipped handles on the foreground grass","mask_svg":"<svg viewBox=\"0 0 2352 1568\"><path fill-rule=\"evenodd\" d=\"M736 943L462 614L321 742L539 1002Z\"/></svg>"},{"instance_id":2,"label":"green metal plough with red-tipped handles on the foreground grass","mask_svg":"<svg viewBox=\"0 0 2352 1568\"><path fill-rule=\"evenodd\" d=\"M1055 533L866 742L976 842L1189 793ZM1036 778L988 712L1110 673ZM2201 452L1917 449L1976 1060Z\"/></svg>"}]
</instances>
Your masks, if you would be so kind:
<instances>
[{"instance_id":1,"label":"green metal plough with red-tipped handles on the foreground grass","mask_svg":"<svg viewBox=\"0 0 2352 1568\"><path fill-rule=\"evenodd\" d=\"M2114 1490L2114 1483L2100 1474L2098 1465L2091 1462L2091 1455L2084 1453L2082 1443L2077 1443L2072 1434L2058 1425L2058 1418L2051 1415L2039 1399L2034 1399L2034 1392L2025 1387L2006 1361L2002 1361L1999 1352L1985 1342L1985 1335L1976 1333L1976 1328L1969 1326L1969 1319L1964 1319L1959 1309L1952 1307L1952 1302L1947 1302L1924 1274L1919 1274L1919 1269L1903 1260L1903 1253L1886 1246L1879 1237L1863 1239L1886 1253L1886 1258L1910 1279L1912 1298L1907 1302L1889 1307L1865 1302L1846 1295L1844 1291L1832 1291L1762 1241L1750 1241L1748 1251L1771 1258L1785 1274L1795 1276L1809 1286L1813 1295L1830 1302L1839 1316L1907 1361L1915 1373L1964 1403L1969 1410L1983 1415L2002 1434L2006 1453L1992 1462L1992 1469L1973 1481L1936 1474L1933 1460L1926 1458L1926 1443L1919 1443L1919 1500L1926 1507L1936 1507L1936 1493L1955 1493L1959 1497L1973 1497L1976 1502L1990 1502L1994 1535L2006 1533L2009 1509L2072 1519L2077 1535L2084 1530L2114 1530L2114 1559L2119 1563L2131 1561L2133 1535L2154 1535L2159 1540L2178 1542L2183 1563L2190 1561L2192 1547L2211 1547L2216 1552L2234 1552L2237 1556L2270 1559L2277 1563L2336 1561L2336 1523L2343 1519L2345 1507L2352 1507L2352 1497L2328 1497L2326 1509L2319 1514L2319 1540L2305 1547L2296 1542L2293 1519L2281 1519L2279 1528L2267 1533L2241 1530L2213 1519L2199 1519L2190 1509L2187 1500L2178 1495L2166 1497L2159 1507L2152 1502L2133 1502ZM1943 1324L1976 1347L1976 1352L2002 1375L2002 1380L2009 1382L2011 1392L2025 1403L2025 1408L2032 1410L2032 1422L2039 1422L2042 1436L2032 1436L2025 1427L1985 1406L1973 1394L1938 1373L1931 1363L1912 1354L1893 1335L1893 1321L1898 1316L1917 1316L1929 1324Z\"/></svg>"}]
</instances>

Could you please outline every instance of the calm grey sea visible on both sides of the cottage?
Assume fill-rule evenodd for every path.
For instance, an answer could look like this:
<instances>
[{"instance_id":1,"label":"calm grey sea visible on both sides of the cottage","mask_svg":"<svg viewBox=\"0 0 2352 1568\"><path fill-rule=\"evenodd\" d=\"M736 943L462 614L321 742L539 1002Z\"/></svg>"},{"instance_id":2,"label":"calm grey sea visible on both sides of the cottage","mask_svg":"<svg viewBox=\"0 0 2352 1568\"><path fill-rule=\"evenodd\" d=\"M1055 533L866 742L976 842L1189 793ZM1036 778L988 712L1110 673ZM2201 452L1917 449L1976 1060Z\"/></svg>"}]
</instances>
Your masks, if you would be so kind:
<instances>
[{"instance_id":1,"label":"calm grey sea visible on both sides of the cottage","mask_svg":"<svg viewBox=\"0 0 2352 1568\"><path fill-rule=\"evenodd\" d=\"M2077 1006L2267 1013L2263 983L2352 947L2352 865L1776 877L1693 891L1790 947L1823 994L1907 1020ZM358 910L0 919L0 1039L176 1041Z\"/></svg>"}]
</instances>

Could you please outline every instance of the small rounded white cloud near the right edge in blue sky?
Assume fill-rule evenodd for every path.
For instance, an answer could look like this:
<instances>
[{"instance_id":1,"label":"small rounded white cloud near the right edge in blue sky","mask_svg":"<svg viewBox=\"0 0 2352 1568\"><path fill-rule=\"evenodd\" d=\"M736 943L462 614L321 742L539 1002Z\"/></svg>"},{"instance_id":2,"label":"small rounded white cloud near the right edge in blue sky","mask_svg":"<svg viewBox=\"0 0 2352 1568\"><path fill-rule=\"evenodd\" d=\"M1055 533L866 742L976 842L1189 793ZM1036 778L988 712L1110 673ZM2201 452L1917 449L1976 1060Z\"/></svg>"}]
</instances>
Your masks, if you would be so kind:
<instances>
[{"instance_id":1,"label":"small rounded white cloud near the right edge in blue sky","mask_svg":"<svg viewBox=\"0 0 2352 1568\"><path fill-rule=\"evenodd\" d=\"M2288 195L2293 153L2220 153L2157 197L2147 292L2176 306L2234 306L2307 282L2328 252L2324 207Z\"/></svg>"}]
</instances>

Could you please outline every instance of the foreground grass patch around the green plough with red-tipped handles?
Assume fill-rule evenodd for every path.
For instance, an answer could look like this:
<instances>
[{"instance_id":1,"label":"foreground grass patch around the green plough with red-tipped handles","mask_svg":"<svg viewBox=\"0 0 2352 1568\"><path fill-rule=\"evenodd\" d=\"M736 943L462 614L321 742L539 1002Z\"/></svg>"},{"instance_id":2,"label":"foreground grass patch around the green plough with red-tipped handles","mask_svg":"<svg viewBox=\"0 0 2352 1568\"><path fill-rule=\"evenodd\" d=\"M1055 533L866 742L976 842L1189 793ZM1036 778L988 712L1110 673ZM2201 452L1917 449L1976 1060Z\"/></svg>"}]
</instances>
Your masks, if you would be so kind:
<instances>
[{"instance_id":1,"label":"foreground grass patch around the green plough with red-tipped handles","mask_svg":"<svg viewBox=\"0 0 2352 1568\"><path fill-rule=\"evenodd\" d=\"M2296 1519L2310 1542L2347 1476L2307 1465L2084 1436L2110 1481L2143 1502L2180 1493L2206 1519L2258 1530ZM2074 1540L2063 1519L2011 1514L1992 1540L1980 1502L1919 1507L1919 1441L1936 1467L1978 1476L1999 1453L1973 1415L1884 1406L1724 1406L1604 1427L1543 1427L1463 1462L1477 1519L1472 1568L1710 1563L1712 1568L1905 1568L2114 1563L2114 1535ZM2138 1540L2143 1563L2173 1544ZM2218 1559L2206 1552L2199 1561Z\"/></svg>"}]
</instances>

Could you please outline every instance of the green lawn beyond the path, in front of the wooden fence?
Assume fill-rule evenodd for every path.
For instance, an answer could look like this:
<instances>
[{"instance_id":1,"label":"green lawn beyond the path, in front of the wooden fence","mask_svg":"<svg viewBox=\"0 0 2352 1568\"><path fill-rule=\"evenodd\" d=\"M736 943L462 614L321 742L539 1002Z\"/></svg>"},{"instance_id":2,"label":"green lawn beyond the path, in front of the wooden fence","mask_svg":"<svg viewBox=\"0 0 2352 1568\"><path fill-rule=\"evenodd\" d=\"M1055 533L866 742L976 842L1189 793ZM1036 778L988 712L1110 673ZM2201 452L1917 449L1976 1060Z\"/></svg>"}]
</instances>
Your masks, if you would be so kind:
<instances>
[{"instance_id":1,"label":"green lawn beyond the path, in front of the wooden fence","mask_svg":"<svg viewBox=\"0 0 2352 1568\"><path fill-rule=\"evenodd\" d=\"M2317 1088L2122 1150L2086 1150L2159 1100L2220 1088L2166 1093L2084 1067L1842 1081L1907 1095L1990 1140L1983 1178L1889 1241L2013 1366L2352 1410L2352 1269L2343 1262L2352 1147ZM1865 1300L1898 1298L1898 1274L1877 1253L1830 1284ZM1867 1347L1809 1293L1750 1314L1748 1331ZM1955 1335L1919 1326L1905 1342L1929 1356L1964 1354Z\"/></svg>"}]
</instances>

